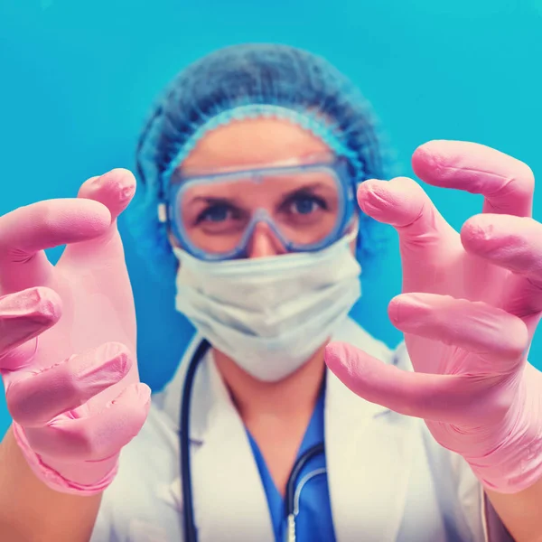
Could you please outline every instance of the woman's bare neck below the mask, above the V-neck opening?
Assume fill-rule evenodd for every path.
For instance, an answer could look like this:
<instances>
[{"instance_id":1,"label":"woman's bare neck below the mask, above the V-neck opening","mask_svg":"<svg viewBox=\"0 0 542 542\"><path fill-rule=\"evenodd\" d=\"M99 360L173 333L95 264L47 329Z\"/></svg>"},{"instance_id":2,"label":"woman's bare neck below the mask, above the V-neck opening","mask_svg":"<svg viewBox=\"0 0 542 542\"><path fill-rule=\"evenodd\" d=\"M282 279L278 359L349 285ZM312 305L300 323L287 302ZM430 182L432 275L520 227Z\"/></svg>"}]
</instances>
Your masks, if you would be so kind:
<instances>
[{"instance_id":1,"label":"woman's bare neck below the mask, above the V-neck opening","mask_svg":"<svg viewBox=\"0 0 542 542\"><path fill-rule=\"evenodd\" d=\"M238 412L247 422L255 416L288 418L307 411L312 413L325 371L324 348L322 345L302 367L278 382L257 380L223 352L213 350L213 353Z\"/></svg>"}]
</instances>

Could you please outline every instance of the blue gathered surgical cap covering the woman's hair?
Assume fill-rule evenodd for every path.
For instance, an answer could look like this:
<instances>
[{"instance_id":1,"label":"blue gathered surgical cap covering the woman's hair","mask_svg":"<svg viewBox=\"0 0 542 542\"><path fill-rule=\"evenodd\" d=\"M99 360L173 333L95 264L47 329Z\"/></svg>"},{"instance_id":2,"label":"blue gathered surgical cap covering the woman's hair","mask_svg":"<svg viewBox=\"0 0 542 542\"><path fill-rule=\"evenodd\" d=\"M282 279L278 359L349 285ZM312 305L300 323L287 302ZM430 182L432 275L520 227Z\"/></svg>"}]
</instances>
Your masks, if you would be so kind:
<instances>
[{"instance_id":1,"label":"blue gathered surgical cap covering the woman's hair","mask_svg":"<svg viewBox=\"0 0 542 542\"><path fill-rule=\"evenodd\" d=\"M353 182L387 177L371 107L328 61L278 44L215 51L182 70L164 89L137 145L137 194L126 218L140 253L161 275L167 271L164 266L176 267L166 225L158 217L170 174L209 130L266 115L312 131L345 155ZM361 255L375 248L369 235L374 225L361 213Z\"/></svg>"}]
</instances>

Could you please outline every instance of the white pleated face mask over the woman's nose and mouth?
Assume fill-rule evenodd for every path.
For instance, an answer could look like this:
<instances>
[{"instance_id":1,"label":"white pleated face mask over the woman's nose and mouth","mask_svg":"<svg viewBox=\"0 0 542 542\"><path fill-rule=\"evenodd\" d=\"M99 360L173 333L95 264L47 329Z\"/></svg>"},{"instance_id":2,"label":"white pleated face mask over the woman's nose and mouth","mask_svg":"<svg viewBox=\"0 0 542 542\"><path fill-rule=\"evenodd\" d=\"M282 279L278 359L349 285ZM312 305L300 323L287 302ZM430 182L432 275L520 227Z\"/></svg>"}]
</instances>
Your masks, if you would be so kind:
<instances>
[{"instance_id":1,"label":"white pleated face mask over the woman's nose and mouth","mask_svg":"<svg viewBox=\"0 0 542 542\"><path fill-rule=\"evenodd\" d=\"M318 252L224 262L173 248L181 264L177 310L254 378L285 378L330 339L360 297L354 237Z\"/></svg>"}]
</instances>

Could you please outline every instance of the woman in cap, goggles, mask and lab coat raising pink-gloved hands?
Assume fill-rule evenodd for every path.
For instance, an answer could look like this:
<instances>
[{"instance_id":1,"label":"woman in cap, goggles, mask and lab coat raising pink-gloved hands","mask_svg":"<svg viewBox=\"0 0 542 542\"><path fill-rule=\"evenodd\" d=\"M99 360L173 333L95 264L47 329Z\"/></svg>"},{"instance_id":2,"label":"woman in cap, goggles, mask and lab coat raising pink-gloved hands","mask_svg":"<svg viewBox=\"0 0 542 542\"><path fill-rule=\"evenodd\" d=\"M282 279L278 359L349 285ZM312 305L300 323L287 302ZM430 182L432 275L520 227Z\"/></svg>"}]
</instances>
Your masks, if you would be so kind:
<instances>
[{"instance_id":1,"label":"woman in cap, goggles, mask and lab coat raising pink-gloved hands","mask_svg":"<svg viewBox=\"0 0 542 542\"><path fill-rule=\"evenodd\" d=\"M132 228L154 265L174 266L176 306L198 333L149 406L115 225L129 173L2 218L10 540L542 533L540 373L526 361L542 248L540 225L519 218L527 166L481 145L416 151L426 182L486 195L460 241L415 182L369 181L384 176L381 149L350 83L278 45L182 71L137 160ZM396 352L348 319L369 216L401 239ZM58 244L51 268L40 251ZM407 351L417 372L400 370Z\"/></svg>"}]
</instances>

